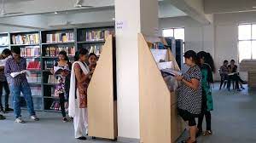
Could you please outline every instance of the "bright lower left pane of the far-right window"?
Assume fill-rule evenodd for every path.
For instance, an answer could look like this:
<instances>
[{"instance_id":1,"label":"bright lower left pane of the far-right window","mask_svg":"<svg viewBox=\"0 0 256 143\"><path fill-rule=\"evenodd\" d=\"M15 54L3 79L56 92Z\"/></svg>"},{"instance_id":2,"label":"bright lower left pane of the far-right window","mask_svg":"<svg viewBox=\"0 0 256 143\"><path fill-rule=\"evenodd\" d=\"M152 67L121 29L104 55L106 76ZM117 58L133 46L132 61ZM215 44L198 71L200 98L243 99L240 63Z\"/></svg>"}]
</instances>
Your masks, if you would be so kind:
<instances>
[{"instance_id":1,"label":"bright lower left pane of the far-right window","mask_svg":"<svg viewBox=\"0 0 256 143\"><path fill-rule=\"evenodd\" d=\"M239 60L251 59L251 41L240 41L239 42Z\"/></svg>"}]
</instances>

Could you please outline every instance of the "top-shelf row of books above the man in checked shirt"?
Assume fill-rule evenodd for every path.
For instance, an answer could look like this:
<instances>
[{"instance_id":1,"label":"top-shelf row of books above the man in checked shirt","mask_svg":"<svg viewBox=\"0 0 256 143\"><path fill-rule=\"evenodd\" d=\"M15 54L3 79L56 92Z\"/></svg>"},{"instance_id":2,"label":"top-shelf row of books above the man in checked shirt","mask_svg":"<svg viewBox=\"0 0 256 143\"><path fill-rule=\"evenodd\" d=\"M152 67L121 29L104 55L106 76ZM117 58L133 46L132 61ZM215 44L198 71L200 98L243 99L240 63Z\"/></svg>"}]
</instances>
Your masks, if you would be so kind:
<instances>
[{"instance_id":1,"label":"top-shelf row of books above the man in checked shirt","mask_svg":"<svg viewBox=\"0 0 256 143\"><path fill-rule=\"evenodd\" d=\"M13 44L38 44L39 34L13 35Z\"/></svg>"}]
</instances>

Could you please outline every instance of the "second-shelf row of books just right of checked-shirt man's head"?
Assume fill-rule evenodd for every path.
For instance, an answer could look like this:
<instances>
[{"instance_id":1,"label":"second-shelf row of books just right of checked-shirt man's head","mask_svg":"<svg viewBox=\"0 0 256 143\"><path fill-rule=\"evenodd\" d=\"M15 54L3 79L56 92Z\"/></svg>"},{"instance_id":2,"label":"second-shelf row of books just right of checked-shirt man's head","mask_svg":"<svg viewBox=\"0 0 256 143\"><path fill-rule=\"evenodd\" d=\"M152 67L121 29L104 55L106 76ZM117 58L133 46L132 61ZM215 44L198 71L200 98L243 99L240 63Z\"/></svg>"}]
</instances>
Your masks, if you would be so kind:
<instances>
[{"instance_id":1,"label":"second-shelf row of books just right of checked-shirt man's head","mask_svg":"<svg viewBox=\"0 0 256 143\"><path fill-rule=\"evenodd\" d=\"M21 57L32 57L32 56L40 56L41 51L39 46L30 46L20 49Z\"/></svg>"}]
</instances>

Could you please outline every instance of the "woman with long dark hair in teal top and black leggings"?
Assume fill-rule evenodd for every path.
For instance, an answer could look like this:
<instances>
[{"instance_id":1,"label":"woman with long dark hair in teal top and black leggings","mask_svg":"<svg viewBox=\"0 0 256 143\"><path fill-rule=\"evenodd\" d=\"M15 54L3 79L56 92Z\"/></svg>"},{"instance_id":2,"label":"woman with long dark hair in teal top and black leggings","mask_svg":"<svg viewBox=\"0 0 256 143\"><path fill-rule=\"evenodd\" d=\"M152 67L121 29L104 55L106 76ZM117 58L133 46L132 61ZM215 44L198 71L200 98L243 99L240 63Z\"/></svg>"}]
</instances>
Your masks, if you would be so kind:
<instances>
[{"instance_id":1,"label":"woman with long dark hair in teal top and black leggings","mask_svg":"<svg viewBox=\"0 0 256 143\"><path fill-rule=\"evenodd\" d=\"M197 54L200 61L201 74L202 74L202 104L201 115L198 118L198 135L211 135L211 111L213 110L212 91L210 84L213 83L212 72L215 72L215 66L212 55L201 51ZM207 130L202 133L202 122L206 117Z\"/></svg>"}]
</instances>

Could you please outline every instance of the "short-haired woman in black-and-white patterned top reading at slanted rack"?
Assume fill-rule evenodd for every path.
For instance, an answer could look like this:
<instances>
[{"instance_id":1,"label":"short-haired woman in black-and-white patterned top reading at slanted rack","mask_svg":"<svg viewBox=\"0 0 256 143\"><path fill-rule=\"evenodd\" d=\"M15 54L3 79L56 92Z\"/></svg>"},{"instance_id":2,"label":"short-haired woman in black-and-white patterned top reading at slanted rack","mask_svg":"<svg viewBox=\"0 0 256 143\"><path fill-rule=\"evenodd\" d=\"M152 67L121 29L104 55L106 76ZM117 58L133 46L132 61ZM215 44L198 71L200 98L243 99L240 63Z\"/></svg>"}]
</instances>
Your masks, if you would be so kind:
<instances>
[{"instance_id":1,"label":"short-haired woman in black-and-white patterned top reading at slanted rack","mask_svg":"<svg viewBox=\"0 0 256 143\"><path fill-rule=\"evenodd\" d=\"M183 120L189 122L189 139L186 143L196 143L196 123L195 117L201 113L201 70L195 64L196 53L189 50L184 54L185 63L189 66L189 71L183 76L176 76L181 81L181 87L177 95L177 111Z\"/></svg>"}]
</instances>

